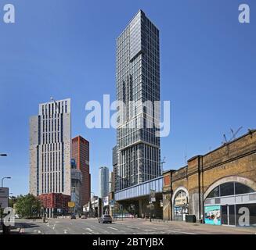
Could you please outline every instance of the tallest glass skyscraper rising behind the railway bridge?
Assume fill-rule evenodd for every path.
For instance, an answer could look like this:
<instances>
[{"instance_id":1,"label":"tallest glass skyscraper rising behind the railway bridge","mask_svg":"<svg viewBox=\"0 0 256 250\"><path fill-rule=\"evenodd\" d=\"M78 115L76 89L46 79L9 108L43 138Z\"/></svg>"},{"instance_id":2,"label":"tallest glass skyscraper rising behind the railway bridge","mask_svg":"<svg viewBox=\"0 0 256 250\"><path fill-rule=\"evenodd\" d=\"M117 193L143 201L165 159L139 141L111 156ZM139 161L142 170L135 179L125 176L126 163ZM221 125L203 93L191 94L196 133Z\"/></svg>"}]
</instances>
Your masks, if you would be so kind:
<instances>
[{"instance_id":1,"label":"tallest glass skyscraper rising behind the railway bridge","mask_svg":"<svg viewBox=\"0 0 256 250\"><path fill-rule=\"evenodd\" d=\"M117 115L115 186L121 190L160 176L160 137L156 134L160 113L154 106L160 101L159 30L142 10L117 38L116 77L117 100L125 105L125 109L117 107L121 113Z\"/></svg>"}]
</instances>

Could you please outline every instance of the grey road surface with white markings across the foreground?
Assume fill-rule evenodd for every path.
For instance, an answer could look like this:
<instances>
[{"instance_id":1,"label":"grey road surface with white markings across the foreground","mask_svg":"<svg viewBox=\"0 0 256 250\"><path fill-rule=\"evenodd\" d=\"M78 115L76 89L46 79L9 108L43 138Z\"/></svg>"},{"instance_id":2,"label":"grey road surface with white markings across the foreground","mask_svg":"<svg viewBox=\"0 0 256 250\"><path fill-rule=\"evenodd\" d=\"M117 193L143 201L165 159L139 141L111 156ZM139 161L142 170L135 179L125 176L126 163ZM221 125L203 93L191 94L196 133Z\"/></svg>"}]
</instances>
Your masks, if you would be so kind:
<instances>
[{"instance_id":1,"label":"grey road surface with white markings across the foreground","mask_svg":"<svg viewBox=\"0 0 256 250\"><path fill-rule=\"evenodd\" d=\"M256 234L254 227L211 226L180 221L125 219L99 223L97 219L16 219L11 234Z\"/></svg>"}]
</instances>

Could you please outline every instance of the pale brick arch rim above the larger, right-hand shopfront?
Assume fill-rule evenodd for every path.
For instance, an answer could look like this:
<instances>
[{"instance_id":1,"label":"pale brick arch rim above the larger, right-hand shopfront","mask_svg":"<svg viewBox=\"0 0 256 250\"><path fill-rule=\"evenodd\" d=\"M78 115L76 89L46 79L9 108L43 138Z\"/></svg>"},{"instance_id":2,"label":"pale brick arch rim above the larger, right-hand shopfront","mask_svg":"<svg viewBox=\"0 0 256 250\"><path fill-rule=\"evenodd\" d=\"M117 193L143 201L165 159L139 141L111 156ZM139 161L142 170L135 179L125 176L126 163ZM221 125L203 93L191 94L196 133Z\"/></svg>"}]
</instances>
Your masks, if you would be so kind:
<instances>
[{"instance_id":1,"label":"pale brick arch rim above the larger, right-hand shopfront","mask_svg":"<svg viewBox=\"0 0 256 250\"><path fill-rule=\"evenodd\" d=\"M224 177L224 178L218 179L214 183L212 183L209 187L207 187L207 190L204 192L204 200L207 198L207 196L210 194L210 192L215 189L215 187L218 187L220 184L224 184L226 182L239 182L240 184L244 184L248 187L251 187L251 189L256 191L256 182L255 181L250 180L246 177L229 176L229 177Z\"/></svg>"}]
</instances>

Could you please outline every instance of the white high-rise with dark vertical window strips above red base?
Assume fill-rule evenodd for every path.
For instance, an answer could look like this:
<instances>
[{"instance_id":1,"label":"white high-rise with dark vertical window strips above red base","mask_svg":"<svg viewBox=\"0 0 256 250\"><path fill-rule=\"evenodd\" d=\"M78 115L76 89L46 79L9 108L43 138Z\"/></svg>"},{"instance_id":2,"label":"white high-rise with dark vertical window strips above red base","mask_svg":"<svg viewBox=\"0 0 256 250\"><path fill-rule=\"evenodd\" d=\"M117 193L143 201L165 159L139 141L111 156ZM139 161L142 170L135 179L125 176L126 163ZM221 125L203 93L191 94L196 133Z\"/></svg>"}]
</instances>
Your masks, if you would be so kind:
<instances>
[{"instance_id":1,"label":"white high-rise with dark vertical window strips above red base","mask_svg":"<svg viewBox=\"0 0 256 250\"><path fill-rule=\"evenodd\" d=\"M39 105L30 119L30 193L70 195L70 99Z\"/></svg>"}]
</instances>

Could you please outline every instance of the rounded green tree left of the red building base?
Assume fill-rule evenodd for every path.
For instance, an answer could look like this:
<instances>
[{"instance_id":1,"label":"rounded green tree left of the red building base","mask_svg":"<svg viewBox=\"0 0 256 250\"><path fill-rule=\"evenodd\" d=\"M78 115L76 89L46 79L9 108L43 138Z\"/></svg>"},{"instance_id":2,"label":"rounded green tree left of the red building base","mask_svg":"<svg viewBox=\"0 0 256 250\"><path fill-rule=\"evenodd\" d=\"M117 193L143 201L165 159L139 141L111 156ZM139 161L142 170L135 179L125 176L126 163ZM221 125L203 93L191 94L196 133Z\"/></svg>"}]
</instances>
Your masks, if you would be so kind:
<instances>
[{"instance_id":1,"label":"rounded green tree left of the red building base","mask_svg":"<svg viewBox=\"0 0 256 250\"><path fill-rule=\"evenodd\" d=\"M25 218L38 216L41 211L41 201L34 195L20 195L16 200L16 213Z\"/></svg>"}]
</instances>

